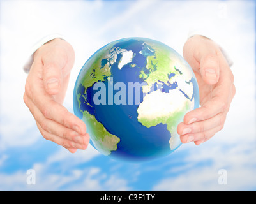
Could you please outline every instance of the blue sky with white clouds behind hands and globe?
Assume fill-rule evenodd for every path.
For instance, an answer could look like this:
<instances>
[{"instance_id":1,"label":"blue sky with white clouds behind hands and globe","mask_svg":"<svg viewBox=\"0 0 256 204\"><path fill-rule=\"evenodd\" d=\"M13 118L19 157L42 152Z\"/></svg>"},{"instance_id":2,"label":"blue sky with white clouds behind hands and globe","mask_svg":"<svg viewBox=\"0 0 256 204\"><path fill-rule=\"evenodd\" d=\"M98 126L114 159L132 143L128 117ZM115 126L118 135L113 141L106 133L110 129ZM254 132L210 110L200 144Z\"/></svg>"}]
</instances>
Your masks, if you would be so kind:
<instances>
[{"instance_id":1,"label":"blue sky with white clouds behind hands and globe","mask_svg":"<svg viewBox=\"0 0 256 204\"><path fill-rule=\"evenodd\" d=\"M0 1L0 191L256 190L254 1ZM162 41L182 54L188 33L207 34L234 61L236 96L225 128L206 143L130 164L93 147L70 154L45 140L22 96L22 65L41 37L61 33L76 61L64 106L73 112L75 79L98 48L120 38ZM27 170L36 184L27 184ZM218 183L220 170L227 184Z\"/></svg>"}]
</instances>

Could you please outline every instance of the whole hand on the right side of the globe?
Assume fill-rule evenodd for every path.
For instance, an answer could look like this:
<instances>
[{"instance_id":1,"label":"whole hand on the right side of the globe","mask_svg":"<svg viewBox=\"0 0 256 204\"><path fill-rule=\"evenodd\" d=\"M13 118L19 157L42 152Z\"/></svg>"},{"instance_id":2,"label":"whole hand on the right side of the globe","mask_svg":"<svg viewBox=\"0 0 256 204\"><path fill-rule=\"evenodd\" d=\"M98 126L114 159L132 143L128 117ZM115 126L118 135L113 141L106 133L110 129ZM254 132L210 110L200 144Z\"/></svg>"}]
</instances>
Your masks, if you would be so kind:
<instances>
[{"instance_id":1,"label":"whole hand on the right side of the globe","mask_svg":"<svg viewBox=\"0 0 256 204\"><path fill-rule=\"evenodd\" d=\"M223 129L236 92L234 76L216 43L203 36L189 38L183 47L184 59L197 77L200 107L184 116L177 126L181 142L206 142Z\"/></svg>"}]
</instances>

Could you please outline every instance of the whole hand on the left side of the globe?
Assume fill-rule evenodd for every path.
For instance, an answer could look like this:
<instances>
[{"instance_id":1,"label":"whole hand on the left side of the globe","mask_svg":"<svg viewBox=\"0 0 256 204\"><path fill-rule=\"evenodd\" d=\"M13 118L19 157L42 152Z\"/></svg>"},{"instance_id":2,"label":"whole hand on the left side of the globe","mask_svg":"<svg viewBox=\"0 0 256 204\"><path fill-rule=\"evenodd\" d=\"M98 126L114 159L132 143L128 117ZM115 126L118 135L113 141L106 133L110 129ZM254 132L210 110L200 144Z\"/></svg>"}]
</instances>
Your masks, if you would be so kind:
<instances>
[{"instance_id":1,"label":"whole hand on the left side of the globe","mask_svg":"<svg viewBox=\"0 0 256 204\"><path fill-rule=\"evenodd\" d=\"M86 125L61 105L75 62L72 46L56 38L38 48L33 58L26 80L24 102L41 135L72 153L77 149L86 149L89 143Z\"/></svg>"}]
</instances>

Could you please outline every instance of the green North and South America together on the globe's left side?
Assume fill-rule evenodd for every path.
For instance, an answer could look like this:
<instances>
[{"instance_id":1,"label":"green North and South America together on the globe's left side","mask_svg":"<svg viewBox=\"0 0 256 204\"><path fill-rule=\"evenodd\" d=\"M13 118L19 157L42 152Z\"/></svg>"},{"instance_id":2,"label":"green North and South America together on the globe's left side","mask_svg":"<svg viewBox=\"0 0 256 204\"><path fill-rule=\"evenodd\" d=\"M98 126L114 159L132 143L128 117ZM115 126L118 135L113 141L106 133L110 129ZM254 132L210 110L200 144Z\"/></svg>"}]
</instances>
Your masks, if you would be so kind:
<instances>
[{"instance_id":1,"label":"green North and South America together on the globe's left side","mask_svg":"<svg viewBox=\"0 0 256 204\"><path fill-rule=\"evenodd\" d=\"M84 93L86 93L87 88L91 87L95 82L102 82L111 76L112 64L116 62L117 54L123 51L116 47L112 48L113 45L114 42L109 43L104 49L98 50L98 52L86 62L87 69L82 70L84 72L79 74L80 76L83 76L79 80L85 88ZM107 52L105 50L107 50ZM79 100L80 96L81 94L77 94L79 107L81 104ZM87 105L90 106L87 101L87 96L83 95L83 97ZM87 132L91 136L93 145L96 149L105 155L109 155L111 154L111 151L117 150L117 143L120 142L120 138L109 133L103 124L96 120L94 115L91 115L87 111L83 111L82 120L87 125Z\"/></svg>"}]
</instances>

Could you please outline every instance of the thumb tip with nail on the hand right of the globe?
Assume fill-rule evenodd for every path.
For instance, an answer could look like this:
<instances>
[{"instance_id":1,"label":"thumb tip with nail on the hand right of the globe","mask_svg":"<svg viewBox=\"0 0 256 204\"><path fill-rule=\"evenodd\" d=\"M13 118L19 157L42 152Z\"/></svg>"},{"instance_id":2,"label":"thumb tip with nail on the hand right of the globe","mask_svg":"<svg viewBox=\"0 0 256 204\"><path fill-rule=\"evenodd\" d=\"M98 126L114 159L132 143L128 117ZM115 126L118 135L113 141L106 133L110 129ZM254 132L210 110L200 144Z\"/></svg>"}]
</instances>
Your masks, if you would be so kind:
<instances>
[{"instance_id":1,"label":"thumb tip with nail on the hand right of the globe","mask_svg":"<svg viewBox=\"0 0 256 204\"><path fill-rule=\"evenodd\" d=\"M209 85L216 84L220 77L220 61L216 54L206 54L200 59L200 73Z\"/></svg>"}]
</instances>

